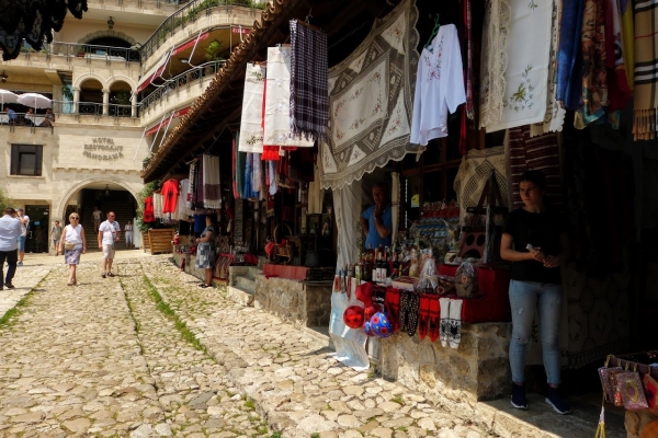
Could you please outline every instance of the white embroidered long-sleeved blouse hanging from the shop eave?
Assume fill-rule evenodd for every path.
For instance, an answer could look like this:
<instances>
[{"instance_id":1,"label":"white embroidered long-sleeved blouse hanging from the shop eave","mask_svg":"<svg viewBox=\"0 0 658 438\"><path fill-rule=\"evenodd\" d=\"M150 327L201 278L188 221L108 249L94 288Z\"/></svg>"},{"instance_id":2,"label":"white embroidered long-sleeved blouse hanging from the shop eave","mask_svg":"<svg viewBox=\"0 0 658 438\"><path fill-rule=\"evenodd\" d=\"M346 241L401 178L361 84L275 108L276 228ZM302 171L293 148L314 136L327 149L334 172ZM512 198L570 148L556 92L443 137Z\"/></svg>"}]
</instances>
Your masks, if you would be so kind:
<instances>
[{"instance_id":1,"label":"white embroidered long-sleeved blouse hanging from the shop eave","mask_svg":"<svg viewBox=\"0 0 658 438\"><path fill-rule=\"evenodd\" d=\"M409 141L427 146L429 140L446 137L447 113L464 102L460 36L454 24L446 24L420 54Z\"/></svg>"}]
</instances>

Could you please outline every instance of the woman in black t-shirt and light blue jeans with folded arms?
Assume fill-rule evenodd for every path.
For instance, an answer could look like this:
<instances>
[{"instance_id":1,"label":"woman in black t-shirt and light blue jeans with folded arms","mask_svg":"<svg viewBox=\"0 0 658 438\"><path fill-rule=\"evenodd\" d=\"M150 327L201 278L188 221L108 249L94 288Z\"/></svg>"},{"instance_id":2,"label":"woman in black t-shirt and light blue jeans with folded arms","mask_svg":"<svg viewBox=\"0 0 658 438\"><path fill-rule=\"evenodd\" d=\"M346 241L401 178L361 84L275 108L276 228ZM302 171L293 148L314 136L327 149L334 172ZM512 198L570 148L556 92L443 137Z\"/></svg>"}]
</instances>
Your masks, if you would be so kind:
<instances>
[{"instance_id":1,"label":"woman in black t-shirt and light blue jeans with folded arms","mask_svg":"<svg viewBox=\"0 0 658 438\"><path fill-rule=\"evenodd\" d=\"M546 176L542 172L525 172L519 192L524 206L509 214L500 244L500 256L512 262L509 290L512 308L511 404L518 410L527 410L525 351L538 311L548 380L545 402L558 414L570 414L569 405L559 394L558 344L563 299L560 265L569 257L568 222L546 204Z\"/></svg>"}]
</instances>

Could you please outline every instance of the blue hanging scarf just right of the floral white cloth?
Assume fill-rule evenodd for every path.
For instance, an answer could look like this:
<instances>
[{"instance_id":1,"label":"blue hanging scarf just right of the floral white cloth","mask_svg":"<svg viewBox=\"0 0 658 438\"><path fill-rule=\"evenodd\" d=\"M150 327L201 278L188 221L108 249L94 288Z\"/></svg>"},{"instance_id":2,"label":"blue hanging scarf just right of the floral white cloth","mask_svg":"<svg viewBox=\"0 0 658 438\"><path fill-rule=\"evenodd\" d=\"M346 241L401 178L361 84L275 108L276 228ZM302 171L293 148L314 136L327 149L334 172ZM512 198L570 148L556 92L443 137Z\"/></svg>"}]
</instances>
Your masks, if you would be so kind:
<instances>
[{"instance_id":1,"label":"blue hanging scarf just right of the floral white cloth","mask_svg":"<svg viewBox=\"0 0 658 438\"><path fill-rule=\"evenodd\" d=\"M585 0L563 2L557 53L557 101L566 110L582 105L582 56L580 44Z\"/></svg>"}]
</instances>

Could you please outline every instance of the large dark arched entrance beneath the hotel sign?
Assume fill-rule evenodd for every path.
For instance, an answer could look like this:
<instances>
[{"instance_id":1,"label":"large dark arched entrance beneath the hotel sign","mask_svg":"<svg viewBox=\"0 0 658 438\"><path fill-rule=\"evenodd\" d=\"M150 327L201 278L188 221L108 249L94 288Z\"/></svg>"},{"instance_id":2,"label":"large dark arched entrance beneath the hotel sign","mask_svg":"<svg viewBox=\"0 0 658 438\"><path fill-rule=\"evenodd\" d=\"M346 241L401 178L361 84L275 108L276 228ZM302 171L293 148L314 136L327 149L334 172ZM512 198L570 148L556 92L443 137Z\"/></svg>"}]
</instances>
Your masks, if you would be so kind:
<instances>
[{"instance_id":1,"label":"large dark arched entrance beneath the hotel sign","mask_svg":"<svg viewBox=\"0 0 658 438\"><path fill-rule=\"evenodd\" d=\"M98 230L94 227L94 208L101 211L101 220L107 218L109 211L114 211L115 220L120 223L122 239L116 243L117 250L125 250L126 242L124 227L127 221L133 221L137 211L136 192L126 188L115 181L86 182L66 194L61 199L59 211L64 219L63 226L68 224L68 216L77 212L80 216L80 224L84 229L87 249L90 252L100 251L98 247Z\"/></svg>"}]
</instances>

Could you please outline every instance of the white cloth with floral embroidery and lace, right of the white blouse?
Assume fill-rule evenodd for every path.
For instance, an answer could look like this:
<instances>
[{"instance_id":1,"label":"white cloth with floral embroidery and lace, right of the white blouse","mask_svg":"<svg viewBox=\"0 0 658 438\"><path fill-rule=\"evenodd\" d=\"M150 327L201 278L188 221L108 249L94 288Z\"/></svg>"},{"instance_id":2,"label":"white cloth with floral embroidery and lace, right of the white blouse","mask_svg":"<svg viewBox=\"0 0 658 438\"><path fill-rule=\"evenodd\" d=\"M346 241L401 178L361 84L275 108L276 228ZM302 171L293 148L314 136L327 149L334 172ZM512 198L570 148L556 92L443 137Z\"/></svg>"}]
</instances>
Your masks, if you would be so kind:
<instances>
[{"instance_id":1,"label":"white cloth with floral embroidery and lace, right of the white blouse","mask_svg":"<svg viewBox=\"0 0 658 438\"><path fill-rule=\"evenodd\" d=\"M546 114L553 2L509 0L509 4L511 20L507 51L513 56L509 57L504 72L506 89L500 117L487 120L484 125L487 132L544 122ZM485 34L489 33L485 31ZM489 57L498 54L490 53ZM489 71L488 77L496 73L499 72ZM487 92L485 87L483 81L483 94ZM497 99L500 96L489 96L488 105L499 107L501 102L496 102Z\"/></svg>"}]
</instances>

